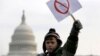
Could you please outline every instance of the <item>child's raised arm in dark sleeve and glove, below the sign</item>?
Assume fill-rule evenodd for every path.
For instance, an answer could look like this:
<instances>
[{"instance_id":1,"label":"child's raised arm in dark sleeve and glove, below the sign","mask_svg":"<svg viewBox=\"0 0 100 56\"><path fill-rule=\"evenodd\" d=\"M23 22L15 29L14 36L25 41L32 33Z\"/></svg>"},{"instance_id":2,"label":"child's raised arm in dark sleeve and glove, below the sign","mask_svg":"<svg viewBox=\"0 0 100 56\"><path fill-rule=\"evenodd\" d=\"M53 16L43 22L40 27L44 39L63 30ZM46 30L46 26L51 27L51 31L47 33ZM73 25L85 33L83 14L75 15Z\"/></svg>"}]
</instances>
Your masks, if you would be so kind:
<instances>
[{"instance_id":1,"label":"child's raised arm in dark sleeve and glove, below the sign","mask_svg":"<svg viewBox=\"0 0 100 56\"><path fill-rule=\"evenodd\" d=\"M79 20L76 20L73 23L73 27L71 33L63 46L63 56L74 56L76 53L76 49L78 46L78 34L80 29L82 29L82 25Z\"/></svg>"}]
</instances>

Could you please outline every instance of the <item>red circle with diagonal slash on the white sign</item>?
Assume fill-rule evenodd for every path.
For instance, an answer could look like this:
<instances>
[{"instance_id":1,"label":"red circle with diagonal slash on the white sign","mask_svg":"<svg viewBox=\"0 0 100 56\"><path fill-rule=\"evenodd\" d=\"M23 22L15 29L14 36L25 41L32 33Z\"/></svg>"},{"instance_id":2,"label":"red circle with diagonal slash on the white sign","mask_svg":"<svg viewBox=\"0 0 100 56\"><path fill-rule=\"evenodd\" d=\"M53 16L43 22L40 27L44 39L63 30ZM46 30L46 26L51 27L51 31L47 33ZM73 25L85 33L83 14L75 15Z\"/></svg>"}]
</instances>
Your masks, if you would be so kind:
<instances>
[{"instance_id":1,"label":"red circle with diagonal slash on the white sign","mask_svg":"<svg viewBox=\"0 0 100 56\"><path fill-rule=\"evenodd\" d=\"M57 7L57 4L59 4L59 5L63 6L63 7L65 7L66 10L65 10L64 12L61 11L61 10ZM67 6L66 6L66 5L64 5L63 3L61 3L61 2L59 2L59 1L57 1L57 0L55 0L55 1L54 1L54 7L55 7L56 11L58 11L59 13L61 13L61 14L67 14L68 11L69 11L69 7L70 7L69 1L67 0Z\"/></svg>"}]
</instances>

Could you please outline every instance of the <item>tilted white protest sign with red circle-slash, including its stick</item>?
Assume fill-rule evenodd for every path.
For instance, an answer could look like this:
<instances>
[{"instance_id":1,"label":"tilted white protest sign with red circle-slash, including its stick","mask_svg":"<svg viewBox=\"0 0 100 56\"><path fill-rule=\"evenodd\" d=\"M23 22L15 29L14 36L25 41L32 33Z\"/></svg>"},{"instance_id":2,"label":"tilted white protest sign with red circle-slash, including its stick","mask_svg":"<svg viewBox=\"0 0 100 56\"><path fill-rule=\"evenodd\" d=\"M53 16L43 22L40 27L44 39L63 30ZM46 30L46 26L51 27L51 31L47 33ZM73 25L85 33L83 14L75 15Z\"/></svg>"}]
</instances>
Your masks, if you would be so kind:
<instances>
[{"instance_id":1,"label":"tilted white protest sign with red circle-slash, including its stick","mask_svg":"<svg viewBox=\"0 0 100 56\"><path fill-rule=\"evenodd\" d=\"M57 21L63 20L68 15L71 15L71 17L75 20L71 13L74 13L81 8L78 0L51 0L47 3L47 5Z\"/></svg>"}]
</instances>

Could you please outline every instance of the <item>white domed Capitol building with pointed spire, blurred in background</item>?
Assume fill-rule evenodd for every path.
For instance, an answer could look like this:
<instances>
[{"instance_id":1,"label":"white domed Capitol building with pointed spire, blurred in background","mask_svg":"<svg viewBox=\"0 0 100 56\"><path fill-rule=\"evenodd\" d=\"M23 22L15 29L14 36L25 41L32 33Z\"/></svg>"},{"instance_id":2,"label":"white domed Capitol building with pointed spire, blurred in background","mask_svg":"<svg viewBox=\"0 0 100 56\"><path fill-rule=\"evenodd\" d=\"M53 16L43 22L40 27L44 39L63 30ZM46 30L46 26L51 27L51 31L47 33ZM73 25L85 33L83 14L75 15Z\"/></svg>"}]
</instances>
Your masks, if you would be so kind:
<instances>
[{"instance_id":1,"label":"white domed Capitol building with pointed spire, blurred in background","mask_svg":"<svg viewBox=\"0 0 100 56\"><path fill-rule=\"evenodd\" d=\"M15 29L9 43L9 52L6 56L36 56L35 36L32 29L25 22L23 11L22 22Z\"/></svg>"}]
</instances>

